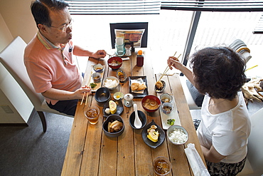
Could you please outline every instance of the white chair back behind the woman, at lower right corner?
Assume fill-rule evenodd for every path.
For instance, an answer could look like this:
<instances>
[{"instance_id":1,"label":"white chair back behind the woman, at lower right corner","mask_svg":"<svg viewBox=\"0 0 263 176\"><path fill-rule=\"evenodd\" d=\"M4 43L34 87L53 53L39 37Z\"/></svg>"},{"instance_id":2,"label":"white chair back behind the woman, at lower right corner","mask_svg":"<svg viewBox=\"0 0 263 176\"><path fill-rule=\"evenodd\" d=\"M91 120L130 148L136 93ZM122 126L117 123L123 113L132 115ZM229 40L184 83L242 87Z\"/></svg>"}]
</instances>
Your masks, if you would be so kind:
<instances>
[{"instance_id":1,"label":"white chair back behind the woman, at lower right corner","mask_svg":"<svg viewBox=\"0 0 263 176\"><path fill-rule=\"evenodd\" d=\"M263 175L263 108L251 116L252 129L248 138L247 161L238 176Z\"/></svg>"}]
</instances>

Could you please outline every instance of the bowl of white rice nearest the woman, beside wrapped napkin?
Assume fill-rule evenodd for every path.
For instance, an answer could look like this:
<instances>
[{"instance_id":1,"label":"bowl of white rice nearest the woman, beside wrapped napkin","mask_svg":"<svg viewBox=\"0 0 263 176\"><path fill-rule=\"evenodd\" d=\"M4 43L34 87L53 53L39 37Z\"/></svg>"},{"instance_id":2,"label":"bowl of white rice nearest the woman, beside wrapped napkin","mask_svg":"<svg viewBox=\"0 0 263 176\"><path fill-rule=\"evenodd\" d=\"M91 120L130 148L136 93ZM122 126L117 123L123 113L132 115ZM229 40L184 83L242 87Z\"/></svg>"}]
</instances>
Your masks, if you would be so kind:
<instances>
[{"instance_id":1,"label":"bowl of white rice nearest the woman, beside wrapped napkin","mask_svg":"<svg viewBox=\"0 0 263 176\"><path fill-rule=\"evenodd\" d=\"M188 140L188 132L180 125L171 125L167 129L167 138L174 145L182 145Z\"/></svg>"}]
</instances>

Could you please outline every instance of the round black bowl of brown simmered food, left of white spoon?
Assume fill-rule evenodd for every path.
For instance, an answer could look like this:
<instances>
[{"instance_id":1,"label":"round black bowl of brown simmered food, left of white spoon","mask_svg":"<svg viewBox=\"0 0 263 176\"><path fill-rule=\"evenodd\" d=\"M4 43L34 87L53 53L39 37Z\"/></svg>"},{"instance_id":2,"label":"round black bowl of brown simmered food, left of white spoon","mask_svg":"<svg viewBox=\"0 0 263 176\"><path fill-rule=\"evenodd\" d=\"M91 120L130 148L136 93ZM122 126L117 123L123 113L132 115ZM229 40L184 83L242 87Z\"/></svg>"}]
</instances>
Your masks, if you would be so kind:
<instances>
[{"instance_id":1,"label":"round black bowl of brown simmered food, left of white spoon","mask_svg":"<svg viewBox=\"0 0 263 176\"><path fill-rule=\"evenodd\" d=\"M118 120L120 123L122 123L122 129L117 132L110 133L108 125L109 123L113 123L115 120ZM104 131L104 134L111 138L116 138L119 135L122 135L122 133L124 132L124 128L125 128L125 125L123 123L122 117L119 115L114 115L114 114L109 115L108 118L102 124L102 129Z\"/></svg>"}]
</instances>

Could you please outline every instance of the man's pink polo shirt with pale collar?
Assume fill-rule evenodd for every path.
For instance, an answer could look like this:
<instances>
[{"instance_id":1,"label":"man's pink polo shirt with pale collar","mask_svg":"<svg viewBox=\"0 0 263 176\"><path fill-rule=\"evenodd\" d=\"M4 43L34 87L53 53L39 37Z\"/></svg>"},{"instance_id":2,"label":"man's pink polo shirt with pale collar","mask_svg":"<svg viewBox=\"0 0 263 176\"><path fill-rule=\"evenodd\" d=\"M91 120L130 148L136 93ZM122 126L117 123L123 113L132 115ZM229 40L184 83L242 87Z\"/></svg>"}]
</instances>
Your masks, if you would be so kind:
<instances>
[{"instance_id":1,"label":"man's pink polo shirt with pale collar","mask_svg":"<svg viewBox=\"0 0 263 176\"><path fill-rule=\"evenodd\" d=\"M67 43L65 48L55 47L39 32L26 46L24 63L37 93L50 88L73 92L81 87L82 76L72 58L73 42ZM53 105L58 102L45 100Z\"/></svg>"}]
</instances>

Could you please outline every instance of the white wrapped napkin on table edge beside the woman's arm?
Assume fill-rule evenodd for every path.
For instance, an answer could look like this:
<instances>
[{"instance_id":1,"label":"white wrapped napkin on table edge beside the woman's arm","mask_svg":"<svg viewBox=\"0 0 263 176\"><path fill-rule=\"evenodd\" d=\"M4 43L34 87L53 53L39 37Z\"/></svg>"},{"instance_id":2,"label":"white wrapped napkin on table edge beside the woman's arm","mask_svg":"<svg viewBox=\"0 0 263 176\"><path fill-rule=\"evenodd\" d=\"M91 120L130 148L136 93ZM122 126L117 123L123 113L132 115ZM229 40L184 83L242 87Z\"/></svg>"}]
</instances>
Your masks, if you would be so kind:
<instances>
[{"instance_id":1,"label":"white wrapped napkin on table edge beside the woman's arm","mask_svg":"<svg viewBox=\"0 0 263 176\"><path fill-rule=\"evenodd\" d=\"M195 145L193 143L187 145L185 152L195 176L210 176L208 169L205 167L203 160L195 149Z\"/></svg>"}]
</instances>

